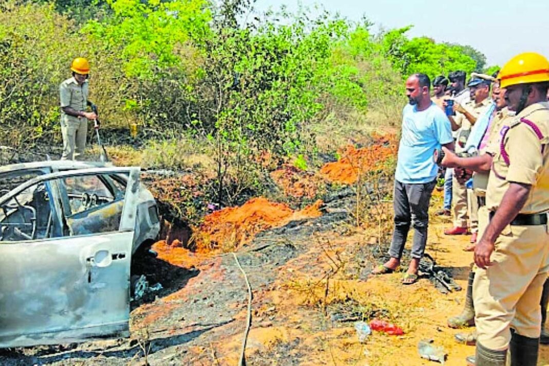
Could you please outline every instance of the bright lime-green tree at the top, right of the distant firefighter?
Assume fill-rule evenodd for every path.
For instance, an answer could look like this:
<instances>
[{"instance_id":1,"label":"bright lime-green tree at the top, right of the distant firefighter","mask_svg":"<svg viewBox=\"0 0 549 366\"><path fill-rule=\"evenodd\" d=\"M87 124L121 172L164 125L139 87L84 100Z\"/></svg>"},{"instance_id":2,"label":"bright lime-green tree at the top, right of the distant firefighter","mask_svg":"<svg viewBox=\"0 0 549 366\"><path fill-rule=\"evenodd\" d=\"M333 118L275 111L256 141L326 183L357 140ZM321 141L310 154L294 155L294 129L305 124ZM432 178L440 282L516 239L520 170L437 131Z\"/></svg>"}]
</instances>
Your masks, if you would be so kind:
<instances>
[{"instance_id":1,"label":"bright lime-green tree at the top, right of the distant firefighter","mask_svg":"<svg viewBox=\"0 0 549 366\"><path fill-rule=\"evenodd\" d=\"M121 48L129 77L160 78L182 65L178 48L200 42L209 33L211 15L204 0L106 0L114 15L92 20L82 29L109 48Z\"/></svg>"}]
</instances>

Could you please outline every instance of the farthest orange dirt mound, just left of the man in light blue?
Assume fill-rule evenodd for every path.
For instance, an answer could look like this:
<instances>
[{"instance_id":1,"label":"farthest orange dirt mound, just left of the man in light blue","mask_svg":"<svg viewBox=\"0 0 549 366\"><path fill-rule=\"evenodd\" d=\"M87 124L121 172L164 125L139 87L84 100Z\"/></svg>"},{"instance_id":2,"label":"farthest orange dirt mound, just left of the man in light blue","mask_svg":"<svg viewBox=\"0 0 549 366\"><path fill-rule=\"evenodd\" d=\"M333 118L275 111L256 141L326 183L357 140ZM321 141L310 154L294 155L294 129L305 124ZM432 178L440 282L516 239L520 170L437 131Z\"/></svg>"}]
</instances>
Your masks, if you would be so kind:
<instances>
[{"instance_id":1,"label":"farthest orange dirt mound, just left of the man in light blue","mask_svg":"<svg viewBox=\"0 0 549 366\"><path fill-rule=\"evenodd\" d=\"M349 145L341 152L341 159L325 164L320 173L334 183L353 184L361 173L378 168L396 155L394 135L374 137L372 146L356 149Z\"/></svg>"}]
</instances>

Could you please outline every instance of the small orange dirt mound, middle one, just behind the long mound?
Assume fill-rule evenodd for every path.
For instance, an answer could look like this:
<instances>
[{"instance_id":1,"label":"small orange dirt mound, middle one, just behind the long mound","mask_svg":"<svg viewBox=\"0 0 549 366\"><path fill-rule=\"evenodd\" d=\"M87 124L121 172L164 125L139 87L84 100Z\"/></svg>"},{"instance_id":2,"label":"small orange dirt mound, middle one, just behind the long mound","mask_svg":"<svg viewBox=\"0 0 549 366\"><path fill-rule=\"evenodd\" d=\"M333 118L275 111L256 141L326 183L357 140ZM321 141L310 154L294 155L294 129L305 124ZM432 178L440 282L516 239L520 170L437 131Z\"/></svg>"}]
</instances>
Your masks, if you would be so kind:
<instances>
[{"instance_id":1,"label":"small orange dirt mound, middle one, just behind the long mound","mask_svg":"<svg viewBox=\"0 0 549 366\"><path fill-rule=\"evenodd\" d=\"M322 183L322 179L314 173L289 164L271 172L271 178L282 188L285 196L294 198L314 198Z\"/></svg>"}]
</instances>

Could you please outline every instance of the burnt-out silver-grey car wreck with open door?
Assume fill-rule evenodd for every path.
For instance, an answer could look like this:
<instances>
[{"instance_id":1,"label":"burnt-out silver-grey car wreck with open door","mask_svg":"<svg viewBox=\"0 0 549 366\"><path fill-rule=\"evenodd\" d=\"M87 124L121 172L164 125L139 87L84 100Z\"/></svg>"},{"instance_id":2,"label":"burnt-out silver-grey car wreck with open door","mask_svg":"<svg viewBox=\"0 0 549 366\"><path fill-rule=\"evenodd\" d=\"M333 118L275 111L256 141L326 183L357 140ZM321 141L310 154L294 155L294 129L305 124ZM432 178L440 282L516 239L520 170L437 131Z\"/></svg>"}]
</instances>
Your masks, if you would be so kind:
<instances>
[{"instance_id":1,"label":"burnt-out silver-grey car wreck with open door","mask_svg":"<svg viewBox=\"0 0 549 366\"><path fill-rule=\"evenodd\" d=\"M0 167L0 347L128 336L130 265L160 231L136 167Z\"/></svg>"}]
</instances>

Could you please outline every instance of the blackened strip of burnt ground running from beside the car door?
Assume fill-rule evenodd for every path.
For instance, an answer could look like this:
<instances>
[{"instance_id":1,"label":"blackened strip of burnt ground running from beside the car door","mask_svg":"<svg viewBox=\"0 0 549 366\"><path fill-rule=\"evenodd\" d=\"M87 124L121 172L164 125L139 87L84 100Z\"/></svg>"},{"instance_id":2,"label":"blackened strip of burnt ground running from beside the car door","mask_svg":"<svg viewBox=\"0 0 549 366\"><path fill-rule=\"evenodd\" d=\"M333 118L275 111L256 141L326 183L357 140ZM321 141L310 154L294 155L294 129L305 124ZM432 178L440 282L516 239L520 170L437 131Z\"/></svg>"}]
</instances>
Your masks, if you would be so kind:
<instances>
[{"instance_id":1,"label":"blackened strip of burnt ground running from beside the car door","mask_svg":"<svg viewBox=\"0 0 549 366\"><path fill-rule=\"evenodd\" d=\"M315 235L347 230L348 207L354 193L341 190L326 199L324 215L292 221L284 227L260 233L237 256L254 292L253 308L261 307L261 293L275 283L279 267L309 249ZM319 239L320 240L320 239ZM131 339L94 341L62 346L38 346L4 350L2 365L180 365L204 362L189 348L217 342L227 335L243 333L243 311L247 307L247 286L230 254L211 258L200 268L182 268L143 255L132 266L132 277L145 274L150 284L163 289L132 302ZM179 292L184 292L180 294ZM262 321L272 321L266 316ZM254 319L254 324L258 322ZM291 345L285 345L292 348ZM282 352L272 350L272 352ZM282 352L284 353L284 352ZM298 357L295 354L294 357ZM257 358L268 357L268 354ZM206 361L209 360L209 361ZM255 362L249 362L256 364Z\"/></svg>"}]
</instances>

